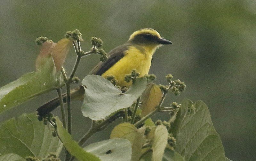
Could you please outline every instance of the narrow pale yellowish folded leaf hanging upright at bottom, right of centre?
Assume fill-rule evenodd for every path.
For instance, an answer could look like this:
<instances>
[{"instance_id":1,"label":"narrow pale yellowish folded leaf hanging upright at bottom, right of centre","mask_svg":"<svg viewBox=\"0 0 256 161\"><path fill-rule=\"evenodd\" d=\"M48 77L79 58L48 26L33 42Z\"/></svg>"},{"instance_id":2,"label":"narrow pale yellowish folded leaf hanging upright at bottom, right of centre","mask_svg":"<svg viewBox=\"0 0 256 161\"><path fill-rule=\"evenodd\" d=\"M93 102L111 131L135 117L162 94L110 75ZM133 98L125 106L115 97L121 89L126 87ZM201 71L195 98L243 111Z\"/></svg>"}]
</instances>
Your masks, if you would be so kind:
<instances>
[{"instance_id":1,"label":"narrow pale yellowish folded leaf hanging upright at bottom, right of centre","mask_svg":"<svg viewBox=\"0 0 256 161\"><path fill-rule=\"evenodd\" d=\"M152 134L152 161L161 161L167 144L168 131L164 125L158 125L150 133L154 133Z\"/></svg>"}]
</instances>

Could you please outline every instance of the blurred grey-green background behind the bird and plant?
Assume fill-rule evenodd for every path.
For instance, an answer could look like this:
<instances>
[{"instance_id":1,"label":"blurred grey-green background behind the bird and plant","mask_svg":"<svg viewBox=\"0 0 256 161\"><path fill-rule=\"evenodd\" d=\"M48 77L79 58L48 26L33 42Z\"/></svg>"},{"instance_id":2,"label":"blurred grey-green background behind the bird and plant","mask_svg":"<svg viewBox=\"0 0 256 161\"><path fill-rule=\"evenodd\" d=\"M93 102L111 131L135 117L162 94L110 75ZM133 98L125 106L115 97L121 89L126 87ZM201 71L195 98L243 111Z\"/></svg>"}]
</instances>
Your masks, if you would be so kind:
<instances>
[{"instance_id":1,"label":"blurred grey-green background behind the bird and plant","mask_svg":"<svg viewBox=\"0 0 256 161\"><path fill-rule=\"evenodd\" d=\"M105 51L126 42L140 28L154 28L172 46L159 48L150 73L156 83L165 83L172 73L187 85L180 96L165 103L203 100L220 134L226 156L233 161L256 158L256 1L0 1L0 86L35 70L38 36L57 42L66 31L79 29L83 50L90 38L100 37ZM70 52L65 68L70 71L75 53ZM77 76L83 78L99 62L91 55L82 60ZM0 115L0 121L35 112L55 97L52 91ZM73 105L74 138L90 126ZM58 114L58 110L55 112ZM156 119L160 115L154 117ZM162 114L162 118L167 116ZM120 121L120 120L119 120ZM118 122L118 121L117 121ZM111 124L111 128L117 124ZM82 126L82 128L81 128ZM108 139L110 130L94 135L88 143Z\"/></svg>"}]
</instances>

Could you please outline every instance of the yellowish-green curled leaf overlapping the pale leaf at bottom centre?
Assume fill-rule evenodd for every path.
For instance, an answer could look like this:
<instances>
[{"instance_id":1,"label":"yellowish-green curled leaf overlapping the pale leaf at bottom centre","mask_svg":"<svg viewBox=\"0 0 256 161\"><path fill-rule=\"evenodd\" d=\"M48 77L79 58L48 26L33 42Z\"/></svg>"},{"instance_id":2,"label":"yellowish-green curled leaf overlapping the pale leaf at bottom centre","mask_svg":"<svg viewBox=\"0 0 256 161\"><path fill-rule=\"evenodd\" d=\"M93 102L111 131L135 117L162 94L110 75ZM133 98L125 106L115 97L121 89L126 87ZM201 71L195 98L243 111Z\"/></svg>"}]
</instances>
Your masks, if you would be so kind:
<instances>
[{"instance_id":1,"label":"yellowish-green curled leaf overlapping the pale leaf at bottom centre","mask_svg":"<svg viewBox=\"0 0 256 161\"><path fill-rule=\"evenodd\" d=\"M134 125L125 122L117 125L111 132L110 138L124 138L132 144L132 160L137 161L141 155L144 140L144 128L137 129Z\"/></svg>"}]
</instances>

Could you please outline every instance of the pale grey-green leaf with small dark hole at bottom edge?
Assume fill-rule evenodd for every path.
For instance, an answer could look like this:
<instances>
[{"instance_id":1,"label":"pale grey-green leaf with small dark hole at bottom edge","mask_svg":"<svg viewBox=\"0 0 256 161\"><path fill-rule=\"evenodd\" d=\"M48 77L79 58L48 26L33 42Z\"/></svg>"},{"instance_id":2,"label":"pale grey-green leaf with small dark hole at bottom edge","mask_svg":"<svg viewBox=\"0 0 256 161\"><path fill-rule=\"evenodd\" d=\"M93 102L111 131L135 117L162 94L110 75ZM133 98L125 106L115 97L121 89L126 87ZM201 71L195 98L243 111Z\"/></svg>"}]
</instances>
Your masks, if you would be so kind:
<instances>
[{"instance_id":1,"label":"pale grey-green leaf with small dark hole at bottom edge","mask_svg":"<svg viewBox=\"0 0 256 161\"><path fill-rule=\"evenodd\" d=\"M129 140L115 138L92 143L84 150L99 157L102 161L131 161L132 146Z\"/></svg>"}]
</instances>

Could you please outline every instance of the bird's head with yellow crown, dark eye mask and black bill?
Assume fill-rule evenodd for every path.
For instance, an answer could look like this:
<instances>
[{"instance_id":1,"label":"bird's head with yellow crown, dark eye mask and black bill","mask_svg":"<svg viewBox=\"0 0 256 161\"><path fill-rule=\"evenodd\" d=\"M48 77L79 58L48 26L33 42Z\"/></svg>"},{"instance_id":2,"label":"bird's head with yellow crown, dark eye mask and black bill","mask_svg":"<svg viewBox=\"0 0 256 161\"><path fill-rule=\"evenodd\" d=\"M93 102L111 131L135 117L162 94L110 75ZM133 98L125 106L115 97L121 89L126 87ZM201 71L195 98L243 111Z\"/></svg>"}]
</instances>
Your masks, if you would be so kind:
<instances>
[{"instance_id":1,"label":"bird's head with yellow crown, dark eye mask and black bill","mask_svg":"<svg viewBox=\"0 0 256 161\"><path fill-rule=\"evenodd\" d=\"M128 42L144 47L159 47L164 44L172 44L171 41L163 39L160 34L150 28L135 31L130 36Z\"/></svg>"}]
</instances>

